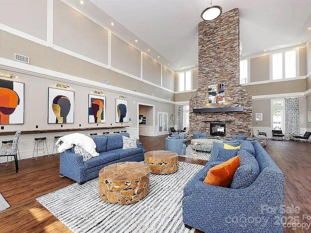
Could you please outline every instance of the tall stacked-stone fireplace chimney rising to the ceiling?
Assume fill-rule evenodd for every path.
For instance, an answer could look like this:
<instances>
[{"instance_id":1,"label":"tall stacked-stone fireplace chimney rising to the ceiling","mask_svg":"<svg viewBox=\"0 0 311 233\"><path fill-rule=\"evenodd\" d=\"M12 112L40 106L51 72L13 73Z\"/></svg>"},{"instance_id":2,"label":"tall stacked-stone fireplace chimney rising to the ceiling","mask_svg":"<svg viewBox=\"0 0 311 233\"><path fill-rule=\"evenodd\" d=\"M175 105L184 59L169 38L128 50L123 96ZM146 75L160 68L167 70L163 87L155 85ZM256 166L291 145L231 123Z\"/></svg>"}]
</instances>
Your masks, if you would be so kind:
<instances>
[{"instance_id":1,"label":"tall stacked-stone fireplace chimney rising to the ceiling","mask_svg":"<svg viewBox=\"0 0 311 233\"><path fill-rule=\"evenodd\" d=\"M209 134L209 121L225 121L226 136L251 135L252 95L240 85L239 9L223 13L212 21L199 23L199 87L190 98L193 108L237 107L241 98L243 112L192 113L190 133ZM208 105L208 85L225 83L225 103ZM205 120L205 121L203 121Z\"/></svg>"}]
</instances>

